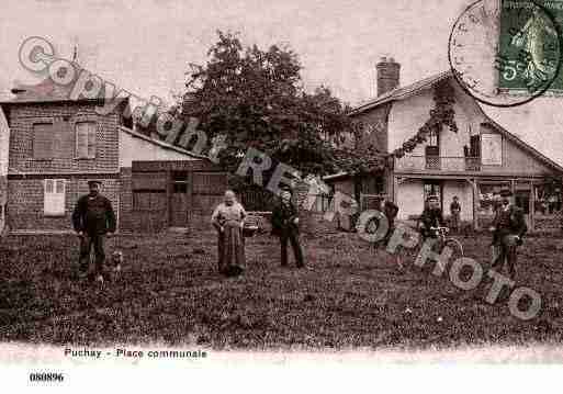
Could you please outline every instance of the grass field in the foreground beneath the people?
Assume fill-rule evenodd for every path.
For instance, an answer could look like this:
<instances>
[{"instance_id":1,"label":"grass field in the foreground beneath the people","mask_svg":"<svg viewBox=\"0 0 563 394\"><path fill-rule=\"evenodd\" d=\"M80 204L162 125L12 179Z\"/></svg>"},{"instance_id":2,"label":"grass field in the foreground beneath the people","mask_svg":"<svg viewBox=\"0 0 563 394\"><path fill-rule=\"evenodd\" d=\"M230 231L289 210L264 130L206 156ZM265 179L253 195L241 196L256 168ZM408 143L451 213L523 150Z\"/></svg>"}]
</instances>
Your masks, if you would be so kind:
<instances>
[{"instance_id":1,"label":"grass field in the foreground beneath the people","mask_svg":"<svg viewBox=\"0 0 563 394\"><path fill-rule=\"evenodd\" d=\"M462 241L466 256L488 260L488 238ZM510 315L506 300L485 302L492 280L468 292L412 262L399 271L354 234L304 245L311 269L283 269L277 239L250 238L245 274L224 279L213 233L123 235L124 270L100 285L75 279L76 238L10 236L0 245L0 341L258 350L563 339L561 239L529 238L520 250L518 285L542 296L539 316L527 322Z\"/></svg>"}]
</instances>

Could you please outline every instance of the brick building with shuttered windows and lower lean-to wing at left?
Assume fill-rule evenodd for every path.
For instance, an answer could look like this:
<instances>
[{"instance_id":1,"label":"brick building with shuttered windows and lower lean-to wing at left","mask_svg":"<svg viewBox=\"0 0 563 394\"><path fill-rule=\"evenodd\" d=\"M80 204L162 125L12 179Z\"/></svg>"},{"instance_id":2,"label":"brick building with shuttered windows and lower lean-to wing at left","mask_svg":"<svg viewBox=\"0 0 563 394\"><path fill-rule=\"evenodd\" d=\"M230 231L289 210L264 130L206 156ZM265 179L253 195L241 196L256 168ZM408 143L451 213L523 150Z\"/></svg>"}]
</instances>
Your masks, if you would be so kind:
<instances>
[{"instance_id":1,"label":"brick building with shuttered windows and lower lean-to wing at left","mask_svg":"<svg viewBox=\"0 0 563 394\"><path fill-rule=\"evenodd\" d=\"M127 127L132 122L126 100L100 115L95 109L103 101L70 100L69 91L50 79L12 92L12 100L0 103L9 126L9 138L0 142L9 144L5 222L13 233L71 230L70 215L78 198L88 193L88 179L102 181L120 230L187 227L193 203L188 182L202 183L202 173L213 180L203 182L212 190L207 204L226 188L226 175L206 158ZM164 165L168 161L174 165ZM134 170L143 164L166 170L155 171L154 182L147 183ZM185 185L178 187L182 182ZM198 195L205 194L200 189ZM212 209L200 211L211 214Z\"/></svg>"}]
</instances>

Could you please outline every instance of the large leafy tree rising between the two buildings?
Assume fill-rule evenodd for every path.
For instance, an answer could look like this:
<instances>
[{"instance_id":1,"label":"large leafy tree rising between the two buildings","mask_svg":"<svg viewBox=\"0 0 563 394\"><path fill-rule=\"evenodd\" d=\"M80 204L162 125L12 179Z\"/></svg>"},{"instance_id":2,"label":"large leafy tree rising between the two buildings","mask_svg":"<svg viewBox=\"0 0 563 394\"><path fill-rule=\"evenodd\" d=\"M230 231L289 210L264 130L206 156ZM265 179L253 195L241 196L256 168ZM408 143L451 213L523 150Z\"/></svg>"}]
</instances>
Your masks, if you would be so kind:
<instances>
[{"instance_id":1,"label":"large leafy tree rising between the two buildings","mask_svg":"<svg viewBox=\"0 0 563 394\"><path fill-rule=\"evenodd\" d=\"M342 144L354 125L348 108L326 87L303 88L296 54L277 45L244 47L218 32L205 65L190 65L187 92L178 115L200 120L210 138L228 136L222 164L234 169L249 147L304 175L381 170L378 151Z\"/></svg>"}]
</instances>

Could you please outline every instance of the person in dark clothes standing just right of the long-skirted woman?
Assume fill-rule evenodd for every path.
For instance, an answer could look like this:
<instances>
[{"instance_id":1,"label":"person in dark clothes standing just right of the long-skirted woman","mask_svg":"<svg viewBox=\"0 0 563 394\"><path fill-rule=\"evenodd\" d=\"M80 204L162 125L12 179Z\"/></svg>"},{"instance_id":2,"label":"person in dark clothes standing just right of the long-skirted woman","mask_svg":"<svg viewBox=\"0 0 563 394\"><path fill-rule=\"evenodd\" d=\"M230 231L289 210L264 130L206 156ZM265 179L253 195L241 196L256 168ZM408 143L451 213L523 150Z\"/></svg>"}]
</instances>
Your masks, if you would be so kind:
<instances>
[{"instance_id":1,"label":"person in dark clothes standing just right of the long-skirted woman","mask_svg":"<svg viewBox=\"0 0 563 394\"><path fill-rule=\"evenodd\" d=\"M281 244L281 266L288 266L288 241L290 241L295 256L295 263L303 268L303 249L300 244L299 233L299 213L297 207L291 201L291 191L281 192L281 201L272 211L272 234L280 237Z\"/></svg>"}]
</instances>

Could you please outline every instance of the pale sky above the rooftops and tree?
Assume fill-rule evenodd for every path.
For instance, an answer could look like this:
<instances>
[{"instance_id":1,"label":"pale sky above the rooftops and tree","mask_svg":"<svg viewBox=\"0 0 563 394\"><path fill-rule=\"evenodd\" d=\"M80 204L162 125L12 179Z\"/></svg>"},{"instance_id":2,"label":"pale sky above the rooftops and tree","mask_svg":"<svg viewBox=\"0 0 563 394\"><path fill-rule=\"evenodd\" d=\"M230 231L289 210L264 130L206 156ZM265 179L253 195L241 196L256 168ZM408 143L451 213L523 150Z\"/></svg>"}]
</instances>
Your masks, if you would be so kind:
<instances>
[{"instance_id":1,"label":"pale sky above the rooftops and tree","mask_svg":"<svg viewBox=\"0 0 563 394\"><path fill-rule=\"evenodd\" d=\"M49 41L122 89L171 101L182 92L189 63L203 64L216 31L244 44L288 45L303 65L307 89L325 85L357 104L375 95L375 64L393 56L405 86L449 69L451 27L473 0L3 0L0 13L0 94L36 76L18 61L30 36ZM538 99L487 111L542 153L563 164L563 99ZM561 112L561 111L560 111ZM558 117L559 116L559 117ZM547 122L542 134L534 127ZM559 138L559 139L558 139Z\"/></svg>"}]
</instances>

